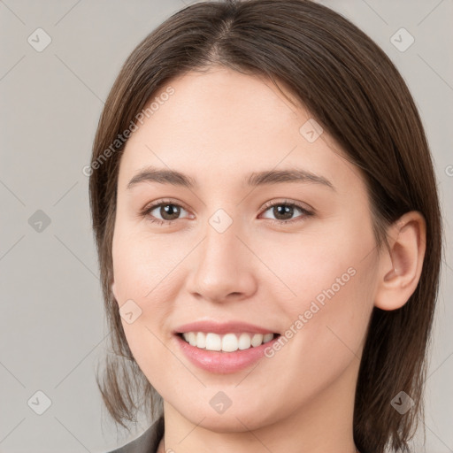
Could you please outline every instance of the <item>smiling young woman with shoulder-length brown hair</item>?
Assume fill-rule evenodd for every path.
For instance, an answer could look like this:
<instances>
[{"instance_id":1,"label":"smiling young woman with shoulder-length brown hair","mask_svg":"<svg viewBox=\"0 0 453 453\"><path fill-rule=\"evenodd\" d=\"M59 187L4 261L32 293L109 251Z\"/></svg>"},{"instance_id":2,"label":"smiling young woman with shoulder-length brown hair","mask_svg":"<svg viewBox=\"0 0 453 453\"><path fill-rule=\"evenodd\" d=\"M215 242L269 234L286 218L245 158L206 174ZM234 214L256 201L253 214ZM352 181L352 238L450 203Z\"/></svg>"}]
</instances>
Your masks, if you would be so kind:
<instances>
[{"instance_id":1,"label":"smiling young woman with shoulder-length brown hair","mask_svg":"<svg viewBox=\"0 0 453 453\"><path fill-rule=\"evenodd\" d=\"M203 2L133 51L90 173L117 452L408 450L441 263L411 94L347 19ZM126 359L126 360L125 360Z\"/></svg>"}]
</instances>

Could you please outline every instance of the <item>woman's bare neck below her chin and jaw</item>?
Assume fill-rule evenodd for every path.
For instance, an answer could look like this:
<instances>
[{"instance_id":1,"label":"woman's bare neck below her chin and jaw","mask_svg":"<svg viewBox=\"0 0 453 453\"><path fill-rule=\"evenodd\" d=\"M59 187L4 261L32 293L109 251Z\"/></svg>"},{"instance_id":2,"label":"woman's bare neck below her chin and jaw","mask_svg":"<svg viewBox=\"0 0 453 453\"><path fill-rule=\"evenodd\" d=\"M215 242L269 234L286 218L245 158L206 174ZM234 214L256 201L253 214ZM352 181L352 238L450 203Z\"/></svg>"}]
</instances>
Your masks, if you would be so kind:
<instances>
[{"instance_id":1,"label":"woman's bare neck below her chin and jaw","mask_svg":"<svg viewBox=\"0 0 453 453\"><path fill-rule=\"evenodd\" d=\"M194 416L186 411L183 415L165 401L165 437L158 453L181 449L185 453L355 453L353 414L358 365L353 361L341 378L296 411L252 430L248 426L253 424L253 415L230 411L229 419L225 412L212 422L211 412Z\"/></svg>"}]
</instances>

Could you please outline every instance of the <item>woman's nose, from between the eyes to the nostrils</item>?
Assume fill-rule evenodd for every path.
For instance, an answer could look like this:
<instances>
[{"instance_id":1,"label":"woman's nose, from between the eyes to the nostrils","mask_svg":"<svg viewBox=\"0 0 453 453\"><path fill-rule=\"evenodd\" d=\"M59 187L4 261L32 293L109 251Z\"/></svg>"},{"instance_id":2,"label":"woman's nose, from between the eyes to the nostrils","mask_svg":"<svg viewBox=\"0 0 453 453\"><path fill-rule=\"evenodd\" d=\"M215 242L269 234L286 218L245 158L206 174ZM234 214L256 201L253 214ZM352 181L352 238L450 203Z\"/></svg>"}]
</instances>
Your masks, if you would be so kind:
<instances>
[{"instance_id":1,"label":"woman's nose, from between the eyes to the nostrils","mask_svg":"<svg viewBox=\"0 0 453 453\"><path fill-rule=\"evenodd\" d=\"M259 260L247 244L247 236L240 231L239 222L223 231L225 222L231 221L225 213L210 220L202 242L191 254L193 272L187 280L188 291L214 303L249 298L257 290Z\"/></svg>"}]
</instances>

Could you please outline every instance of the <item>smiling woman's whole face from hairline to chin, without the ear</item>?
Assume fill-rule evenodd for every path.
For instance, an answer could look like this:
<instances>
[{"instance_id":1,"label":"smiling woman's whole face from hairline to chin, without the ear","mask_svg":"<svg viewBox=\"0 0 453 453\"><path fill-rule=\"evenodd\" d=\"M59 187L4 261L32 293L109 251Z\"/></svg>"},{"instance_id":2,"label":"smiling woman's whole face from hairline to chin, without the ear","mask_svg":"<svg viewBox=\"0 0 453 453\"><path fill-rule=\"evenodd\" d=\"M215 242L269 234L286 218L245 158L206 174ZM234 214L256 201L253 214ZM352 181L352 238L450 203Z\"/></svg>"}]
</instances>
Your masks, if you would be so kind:
<instances>
[{"instance_id":1,"label":"smiling woman's whole face from hairline to chin, without the ear","mask_svg":"<svg viewBox=\"0 0 453 453\"><path fill-rule=\"evenodd\" d=\"M271 81L170 85L121 157L112 290L166 404L256 429L355 386L378 259L365 182Z\"/></svg>"}]
</instances>

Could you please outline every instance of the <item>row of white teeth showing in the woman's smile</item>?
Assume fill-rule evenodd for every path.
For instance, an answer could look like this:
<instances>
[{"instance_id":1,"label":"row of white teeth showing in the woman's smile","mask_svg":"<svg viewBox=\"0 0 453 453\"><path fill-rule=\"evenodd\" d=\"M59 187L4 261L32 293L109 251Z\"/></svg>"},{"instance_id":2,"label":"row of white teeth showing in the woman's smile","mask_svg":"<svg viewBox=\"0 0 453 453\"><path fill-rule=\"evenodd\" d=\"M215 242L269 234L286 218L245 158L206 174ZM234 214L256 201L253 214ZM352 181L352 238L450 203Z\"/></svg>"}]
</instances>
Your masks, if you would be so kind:
<instances>
[{"instance_id":1,"label":"row of white teeth showing in the woman's smile","mask_svg":"<svg viewBox=\"0 0 453 453\"><path fill-rule=\"evenodd\" d=\"M234 352L237 349L256 348L264 342L273 340L273 334L213 334L204 332L185 332L182 337L191 346L206 350Z\"/></svg>"}]
</instances>

